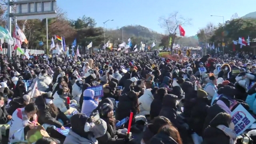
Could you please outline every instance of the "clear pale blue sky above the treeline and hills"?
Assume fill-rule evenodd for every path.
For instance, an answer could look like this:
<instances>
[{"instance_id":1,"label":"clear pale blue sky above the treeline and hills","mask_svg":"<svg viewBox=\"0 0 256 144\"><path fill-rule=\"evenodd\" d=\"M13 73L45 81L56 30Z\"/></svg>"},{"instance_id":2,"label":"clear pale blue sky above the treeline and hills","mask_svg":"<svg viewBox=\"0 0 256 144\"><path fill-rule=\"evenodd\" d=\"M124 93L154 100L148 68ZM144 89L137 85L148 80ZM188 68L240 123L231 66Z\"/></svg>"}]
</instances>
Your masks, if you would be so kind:
<instances>
[{"instance_id":1,"label":"clear pale blue sky above the treeline and hills","mask_svg":"<svg viewBox=\"0 0 256 144\"><path fill-rule=\"evenodd\" d=\"M77 19L86 15L97 21L97 26L103 27L108 19L106 28L117 28L126 25L141 25L164 33L159 26L158 19L178 11L183 18L191 18L191 25L183 26L186 36L196 35L199 28L213 22L222 23L221 17L210 15L223 15L230 20L231 15L238 13L239 17L256 11L255 0L246 2L239 0L58 0L57 5L67 12L69 19Z\"/></svg>"}]
</instances>

